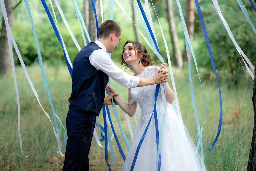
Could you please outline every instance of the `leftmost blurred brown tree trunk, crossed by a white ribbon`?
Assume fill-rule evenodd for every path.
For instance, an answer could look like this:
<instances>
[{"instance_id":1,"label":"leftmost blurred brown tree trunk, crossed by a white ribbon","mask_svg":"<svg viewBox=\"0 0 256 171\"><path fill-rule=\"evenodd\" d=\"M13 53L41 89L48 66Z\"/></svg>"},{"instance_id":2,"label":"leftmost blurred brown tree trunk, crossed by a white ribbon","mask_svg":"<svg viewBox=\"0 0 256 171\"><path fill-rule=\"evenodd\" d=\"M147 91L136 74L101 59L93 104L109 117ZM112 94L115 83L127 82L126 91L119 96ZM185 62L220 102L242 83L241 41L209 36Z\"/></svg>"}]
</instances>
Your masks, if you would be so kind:
<instances>
[{"instance_id":1,"label":"leftmost blurred brown tree trunk, crossed by a white ribbon","mask_svg":"<svg viewBox=\"0 0 256 171\"><path fill-rule=\"evenodd\" d=\"M8 16L9 26L13 28L13 17L14 17L14 2L13 0L4 0L5 8ZM3 19L3 18L2 18ZM7 30L5 27L5 20L2 20L2 29L0 36L0 75L7 74L10 72L10 52L7 40Z\"/></svg>"}]
</instances>

